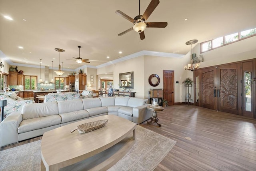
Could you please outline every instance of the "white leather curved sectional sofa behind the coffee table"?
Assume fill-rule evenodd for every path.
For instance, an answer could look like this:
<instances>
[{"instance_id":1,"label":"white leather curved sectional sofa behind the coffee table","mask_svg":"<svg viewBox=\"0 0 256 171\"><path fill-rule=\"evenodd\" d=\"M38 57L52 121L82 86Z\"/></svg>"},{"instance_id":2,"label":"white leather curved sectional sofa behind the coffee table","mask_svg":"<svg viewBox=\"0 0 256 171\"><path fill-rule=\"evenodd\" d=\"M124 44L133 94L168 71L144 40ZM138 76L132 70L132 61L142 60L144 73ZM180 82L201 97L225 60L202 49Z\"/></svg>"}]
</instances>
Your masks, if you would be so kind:
<instances>
[{"instance_id":1,"label":"white leather curved sectional sofa behind the coffee table","mask_svg":"<svg viewBox=\"0 0 256 171\"><path fill-rule=\"evenodd\" d=\"M72 122L100 115L118 115L140 124L152 111L144 99L135 97L97 97L26 104L0 123L0 147L43 135Z\"/></svg>"}]
</instances>

